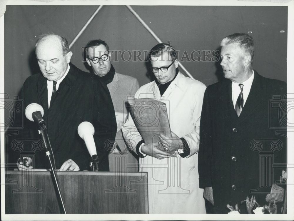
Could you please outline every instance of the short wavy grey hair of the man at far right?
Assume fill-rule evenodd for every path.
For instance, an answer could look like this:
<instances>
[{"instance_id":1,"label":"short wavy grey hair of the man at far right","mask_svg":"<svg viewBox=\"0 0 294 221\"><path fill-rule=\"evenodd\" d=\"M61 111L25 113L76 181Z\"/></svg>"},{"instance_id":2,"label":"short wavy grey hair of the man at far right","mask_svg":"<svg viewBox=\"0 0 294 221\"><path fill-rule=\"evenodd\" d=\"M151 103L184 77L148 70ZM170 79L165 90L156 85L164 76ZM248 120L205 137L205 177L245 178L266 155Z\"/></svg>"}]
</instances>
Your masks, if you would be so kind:
<instances>
[{"instance_id":1,"label":"short wavy grey hair of the man at far right","mask_svg":"<svg viewBox=\"0 0 294 221\"><path fill-rule=\"evenodd\" d=\"M220 46L225 46L228 44L238 44L240 48L243 48L245 52L249 53L251 56L251 62L253 61L254 56L254 44L253 38L245 33L235 33L226 36L221 42Z\"/></svg>"}]
</instances>

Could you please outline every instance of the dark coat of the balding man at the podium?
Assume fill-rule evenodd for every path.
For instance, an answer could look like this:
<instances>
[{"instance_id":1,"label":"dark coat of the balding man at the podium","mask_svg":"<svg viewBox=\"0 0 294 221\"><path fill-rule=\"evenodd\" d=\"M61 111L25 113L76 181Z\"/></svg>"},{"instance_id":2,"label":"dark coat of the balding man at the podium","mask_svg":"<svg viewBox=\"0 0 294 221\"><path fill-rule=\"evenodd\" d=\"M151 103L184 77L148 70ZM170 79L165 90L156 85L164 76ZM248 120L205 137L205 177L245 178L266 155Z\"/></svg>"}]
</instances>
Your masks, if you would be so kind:
<instances>
[{"instance_id":1,"label":"dark coat of the balding man at the podium","mask_svg":"<svg viewBox=\"0 0 294 221\"><path fill-rule=\"evenodd\" d=\"M24 82L21 97L24 107L38 103L44 108L43 119L53 149L56 169L72 159L80 170L85 170L90 154L84 141L77 133L78 125L83 121L91 122L95 128L94 140L99 158L100 171L109 171L108 153L116 134L116 119L109 91L98 78L70 64L69 73L60 83L55 96L51 98L48 109L47 79L42 74L34 74ZM22 138L41 139L34 122L25 120ZM34 168L50 168L45 155L45 147L33 148L26 142L21 155L34 158Z\"/></svg>"}]
</instances>

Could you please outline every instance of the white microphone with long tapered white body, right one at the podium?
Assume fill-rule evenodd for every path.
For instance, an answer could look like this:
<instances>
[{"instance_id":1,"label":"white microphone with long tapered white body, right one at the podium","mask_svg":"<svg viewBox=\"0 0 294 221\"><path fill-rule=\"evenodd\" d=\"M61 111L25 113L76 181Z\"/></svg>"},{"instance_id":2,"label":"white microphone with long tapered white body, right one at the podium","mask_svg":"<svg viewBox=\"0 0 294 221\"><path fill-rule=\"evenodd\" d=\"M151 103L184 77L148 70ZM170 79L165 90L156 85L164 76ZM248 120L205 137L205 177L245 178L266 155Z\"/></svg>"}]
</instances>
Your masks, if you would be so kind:
<instances>
[{"instance_id":1,"label":"white microphone with long tapered white body, right one at the podium","mask_svg":"<svg viewBox=\"0 0 294 221\"><path fill-rule=\"evenodd\" d=\"M92 159L90 166L93 167L93 171L98 171L98 156L93 137L94 132L95 129L93 124L88 121L81 122L80 125L78 125L78 135L85 141L86 147Z\"/></svg>"}]
</instances>

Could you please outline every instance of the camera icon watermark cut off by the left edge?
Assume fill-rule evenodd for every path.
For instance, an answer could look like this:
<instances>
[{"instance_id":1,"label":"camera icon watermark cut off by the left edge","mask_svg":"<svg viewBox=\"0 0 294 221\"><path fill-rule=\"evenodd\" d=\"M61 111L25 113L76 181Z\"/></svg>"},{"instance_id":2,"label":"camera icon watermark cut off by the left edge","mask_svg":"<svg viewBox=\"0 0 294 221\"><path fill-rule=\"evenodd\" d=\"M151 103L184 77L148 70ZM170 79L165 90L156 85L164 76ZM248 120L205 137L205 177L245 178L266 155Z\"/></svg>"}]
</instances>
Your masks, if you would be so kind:
<instances>
[{"instance_id":1,"label":"camera icon watermark cut off by the left edge","mask_svg":"<svg viewBox=\"0 0 294 221\"><path fill-rule=\"evenodd\" d=\"M24 127L24 101L18 96L10 99L7 93L1 94L0 108L4 109L4 121L0 124L2 129L21 129Z\"/></svg>"}]
</instances>

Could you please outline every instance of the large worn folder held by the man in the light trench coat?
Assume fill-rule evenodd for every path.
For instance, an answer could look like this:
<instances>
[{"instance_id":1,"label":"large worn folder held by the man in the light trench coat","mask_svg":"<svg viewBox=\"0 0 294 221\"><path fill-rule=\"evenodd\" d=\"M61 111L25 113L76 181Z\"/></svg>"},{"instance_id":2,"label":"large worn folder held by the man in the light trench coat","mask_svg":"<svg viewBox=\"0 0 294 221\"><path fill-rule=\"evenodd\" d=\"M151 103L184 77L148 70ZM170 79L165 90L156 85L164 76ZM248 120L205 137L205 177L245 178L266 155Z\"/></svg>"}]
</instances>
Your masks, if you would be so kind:
<instances>
[{"instance_id":1,"label":"large worn folder held by the man in the light trench coat","mask_svg":"<svg viewBox=\"0 0 294 221\"><path fill-rule=\"evenodd\" d=\"M145 144L157 143L159 134L171 137L165 103L150 98L141 98L129 99L128 104L133 121Z\"/></svg>"}]
</instances>

